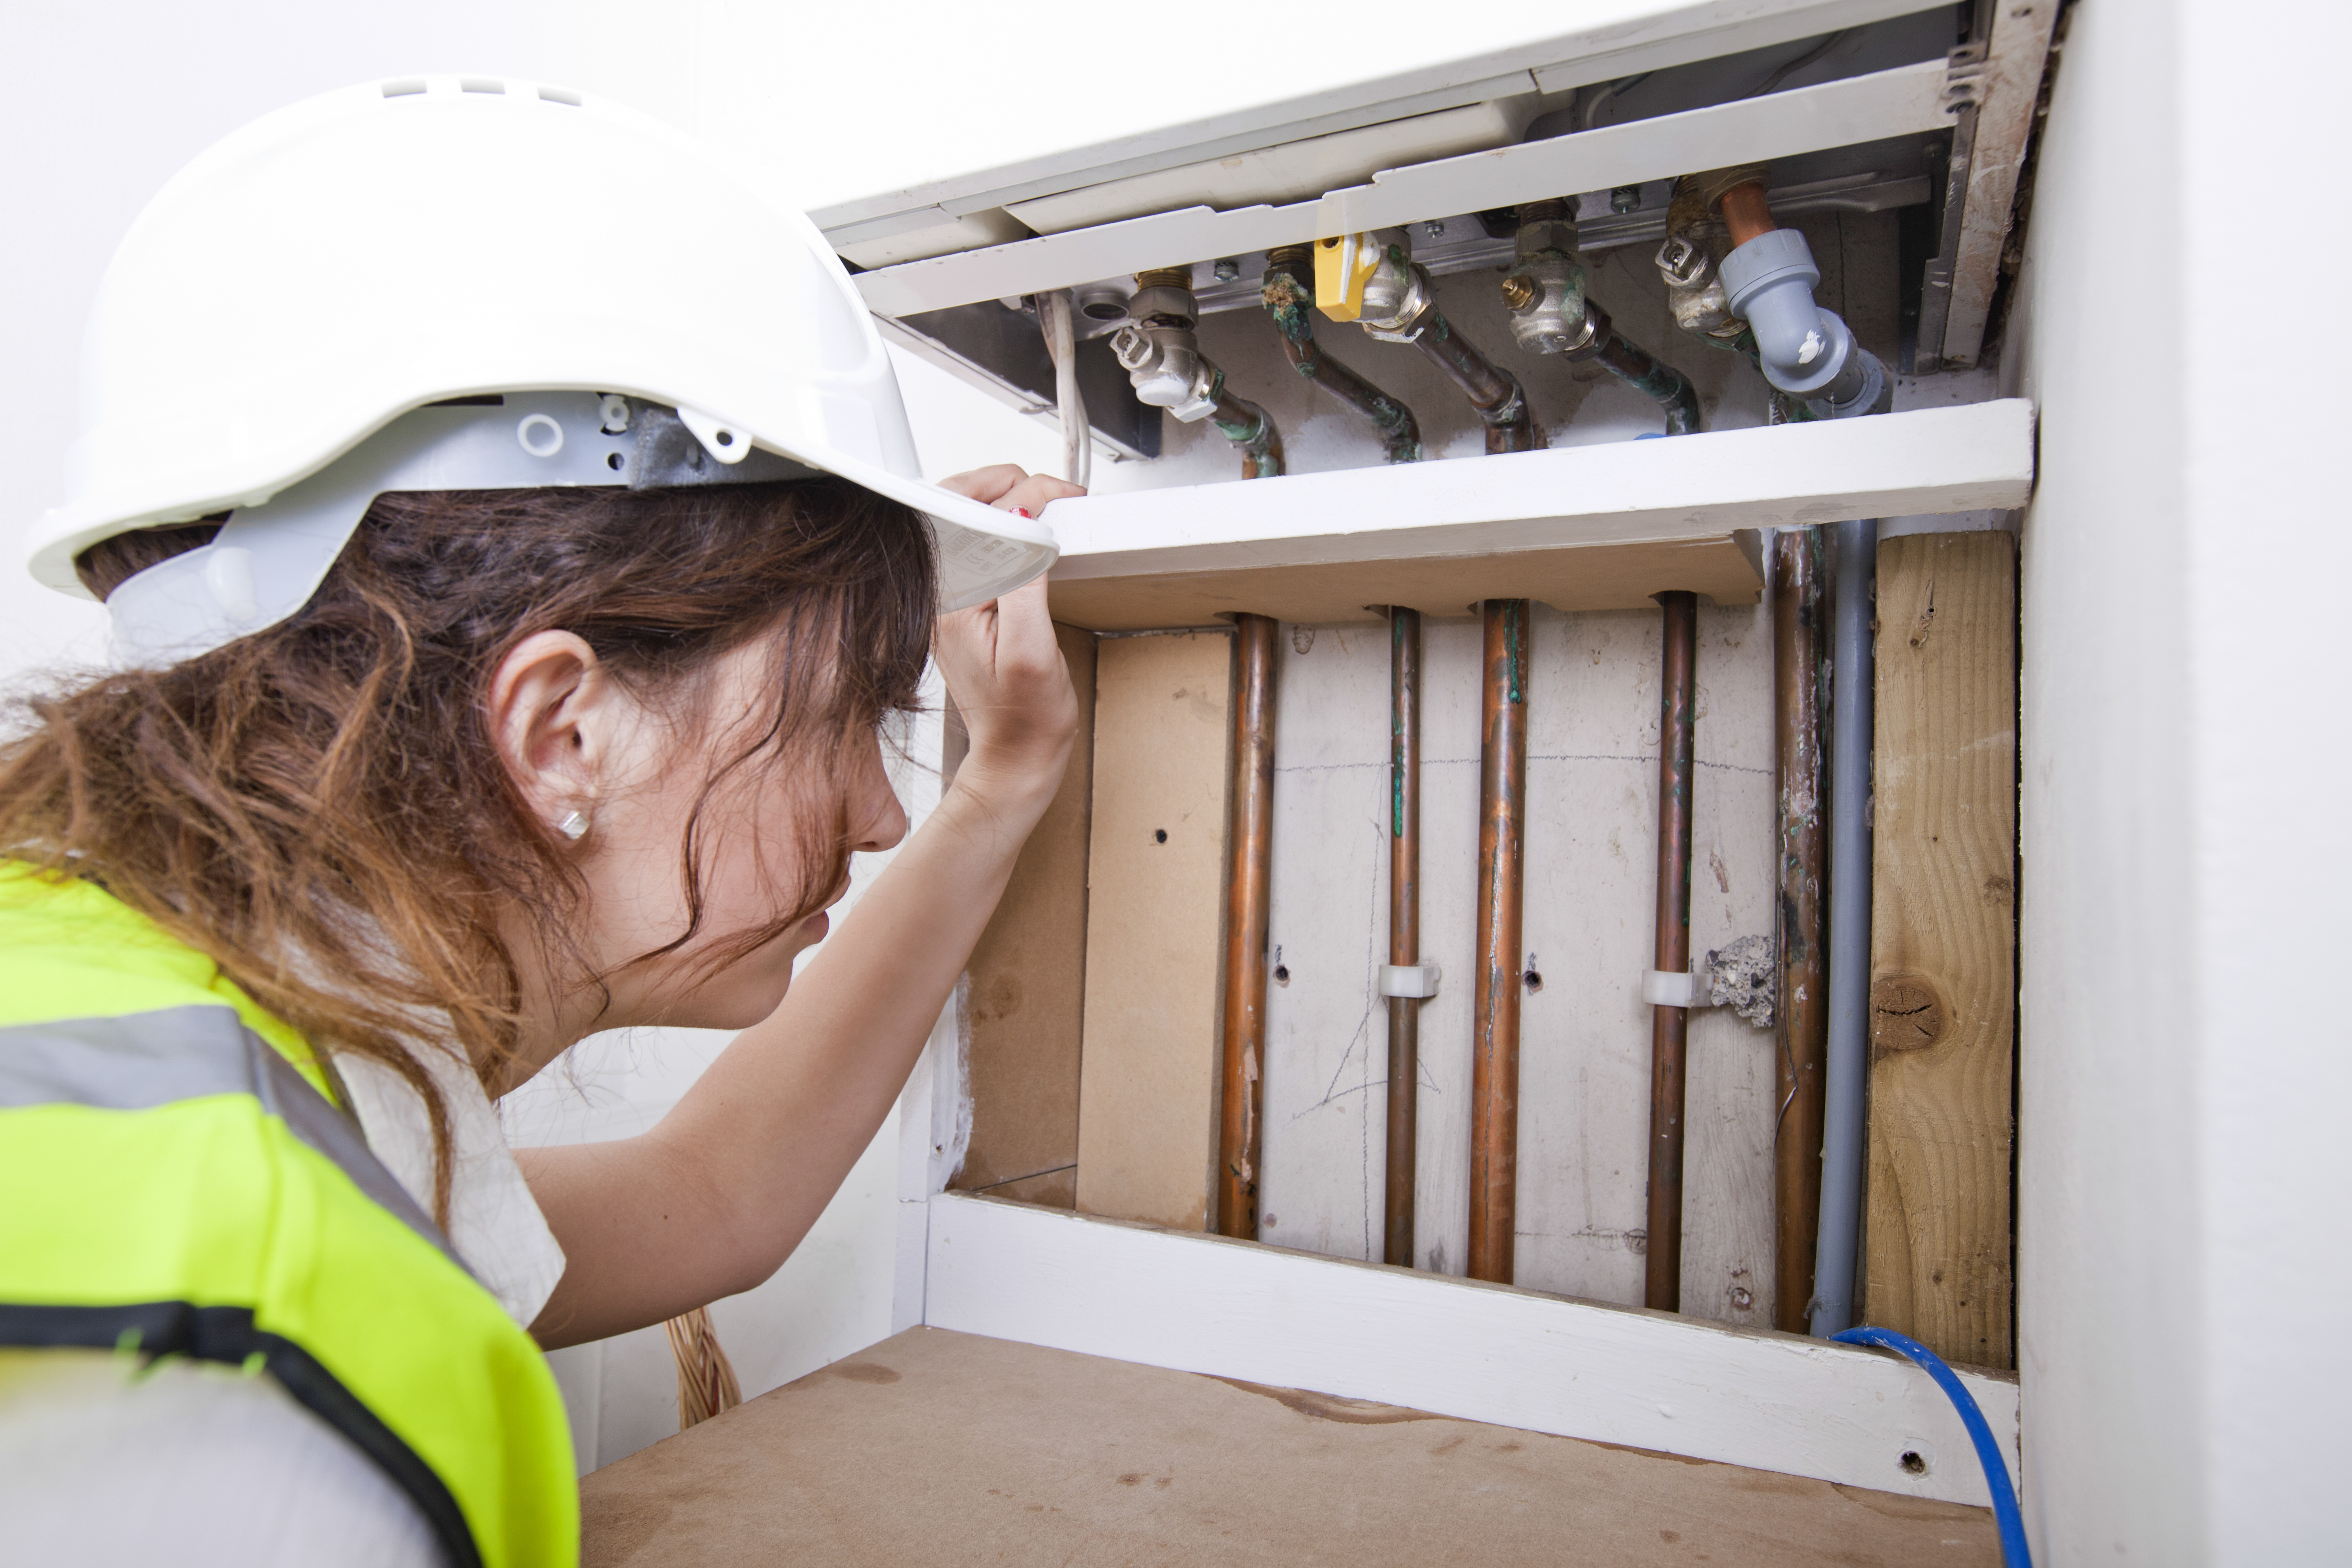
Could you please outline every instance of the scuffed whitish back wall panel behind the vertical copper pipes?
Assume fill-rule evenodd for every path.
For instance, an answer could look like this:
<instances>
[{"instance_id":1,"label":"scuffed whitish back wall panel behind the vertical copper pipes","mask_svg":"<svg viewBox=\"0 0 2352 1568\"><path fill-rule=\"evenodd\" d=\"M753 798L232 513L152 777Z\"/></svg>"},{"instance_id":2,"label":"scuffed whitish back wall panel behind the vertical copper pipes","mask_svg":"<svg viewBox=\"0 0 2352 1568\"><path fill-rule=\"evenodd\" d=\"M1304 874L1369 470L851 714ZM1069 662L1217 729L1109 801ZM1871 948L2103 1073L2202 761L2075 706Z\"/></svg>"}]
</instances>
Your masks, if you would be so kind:
<instances>
[{"instance_id":1,"label":"scuffed whitish back wall panel behind the vertical copper pipes","mask_svg":"<svg viewBox=\"0 0 2352 1568\"><path fill-rule=\"evenodd\" d=\"M1526 969L1512 1284L1642 1305L1658 825L1656 604L1526 628ZM1287 628L1275 752L1272 919L1287 980L1265 1006L1261 1239L1378 1260L1388 1161L1390 639ZM1470 1013L1477 990L1479 696L1475 618L1423 628L1421 1006L1414 1262L1461 1274L1470 1227ZM1769 933L1771 618L1700 609L1691 788L1691 952ZM1684 1312L1771 1324L1773 1037L1729 1009L1689 1018ZM1007 1194L1011 1197L1011 1194Z\"/></svg>"}]
</instances>

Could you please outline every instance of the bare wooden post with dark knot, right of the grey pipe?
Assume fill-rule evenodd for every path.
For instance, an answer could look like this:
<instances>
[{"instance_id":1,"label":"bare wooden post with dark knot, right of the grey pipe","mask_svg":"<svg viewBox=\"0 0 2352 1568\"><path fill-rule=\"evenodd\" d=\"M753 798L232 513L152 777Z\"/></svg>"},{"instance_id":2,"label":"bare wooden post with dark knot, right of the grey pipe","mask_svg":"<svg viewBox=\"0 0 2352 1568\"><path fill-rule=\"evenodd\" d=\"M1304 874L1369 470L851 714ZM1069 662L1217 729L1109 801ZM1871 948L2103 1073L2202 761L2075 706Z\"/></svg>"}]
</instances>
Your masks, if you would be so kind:
<instances>
[{"instance_id":1,"label":"bare wooden post with dark knot, right of the grey pipe","mask_svg":"<svg viewBox=\"0 0 2352 1568\"><path fill-rule=\"evenodd\" d=\"M2013 1366L2018 642L2009 534L1879 545L1863 1316Z\"/></svg>"}]
</instances>

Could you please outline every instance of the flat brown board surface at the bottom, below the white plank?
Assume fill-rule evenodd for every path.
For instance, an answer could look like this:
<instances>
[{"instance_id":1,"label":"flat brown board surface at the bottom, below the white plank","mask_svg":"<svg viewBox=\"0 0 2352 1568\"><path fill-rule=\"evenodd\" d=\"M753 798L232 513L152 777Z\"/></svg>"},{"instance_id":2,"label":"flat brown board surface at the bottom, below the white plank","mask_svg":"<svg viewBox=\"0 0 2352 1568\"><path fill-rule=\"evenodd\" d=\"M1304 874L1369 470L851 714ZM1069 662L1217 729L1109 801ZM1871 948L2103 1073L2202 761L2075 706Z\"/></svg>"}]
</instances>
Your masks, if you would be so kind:
<instances>
[{"instance_id":1,"label":"flat brown board surface at the bottom, below the white plank","mask_svg":"<svg viewBox=\"0 0 2352 1568\"><path fill-rule=\"evenodd\" d=\"M600 1469L581 1526L590 1568L2002 1559L1985 1509L941 1328Z\"/></svg>"}]
</instances>

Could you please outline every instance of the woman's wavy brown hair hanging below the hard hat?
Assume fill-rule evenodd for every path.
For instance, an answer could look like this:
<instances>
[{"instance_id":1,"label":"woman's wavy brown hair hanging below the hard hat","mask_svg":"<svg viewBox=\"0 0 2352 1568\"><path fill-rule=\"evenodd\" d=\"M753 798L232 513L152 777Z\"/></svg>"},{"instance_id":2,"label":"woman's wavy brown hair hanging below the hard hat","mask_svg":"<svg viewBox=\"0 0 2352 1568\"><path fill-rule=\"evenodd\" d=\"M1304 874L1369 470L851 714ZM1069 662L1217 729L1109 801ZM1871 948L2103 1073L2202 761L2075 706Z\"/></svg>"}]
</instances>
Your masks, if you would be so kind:
<instances>
[{"instance_id":1,"label":"woman's wavy brown hair hanging below the hard hat","mask_svg":"<svg viewBox=\"0 0 2352 1568\"><path fill-rule=\"evenodd\" d=\"M103 597L216 529L125 534L75 564ZM397 1072L428 1107L447 1215L447 1107L416 1048L454 1037L485 1084L513 1058L501 914L532 910L550 973L602 983L572 938L586 886L567 844L492 743L499 661L541 630L579 635L633 696L682 715L673 750L689 757L710 750L696 726L715 661L764 639L769 708L708 755L680 825L687 926L640 954L703 933L713 790L795 769L811 806L800 886L764 926L720 933L717 969L840 886L844 743L915 708L934 592L929 527L842 480L379 496L294 618L167 670L16 696L0 853L101 884L329 1056Z\"/></svg>"}]
</instances>

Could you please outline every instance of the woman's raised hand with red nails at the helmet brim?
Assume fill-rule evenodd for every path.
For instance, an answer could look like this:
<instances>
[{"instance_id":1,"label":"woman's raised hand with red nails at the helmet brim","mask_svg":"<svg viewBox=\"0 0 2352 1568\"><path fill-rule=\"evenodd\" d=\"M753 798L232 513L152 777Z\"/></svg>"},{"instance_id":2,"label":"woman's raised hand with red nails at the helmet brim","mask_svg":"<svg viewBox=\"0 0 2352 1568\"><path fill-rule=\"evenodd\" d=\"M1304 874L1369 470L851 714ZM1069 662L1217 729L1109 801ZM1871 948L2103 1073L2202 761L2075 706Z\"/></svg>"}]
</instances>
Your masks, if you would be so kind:
<instances>
[{"instance_id":1,"label":"woman's raised hand with red nails at the helmet brim","mask_svg":"<svg viewBox=\"0 0 2352 1568\"><path fill-rule=\"evenodd\" d=\"M1028 515L1042 512L1047 501L1087 494L1065 480L1025 475L1009 463L941 484ZM1061 644L1054 642L1044 581L941 616L931 646L971 736L971 752L955 773L957 785L1033 820L1054 799L1077 736L1077 696Z\"/></svg>"}]
</instances>

